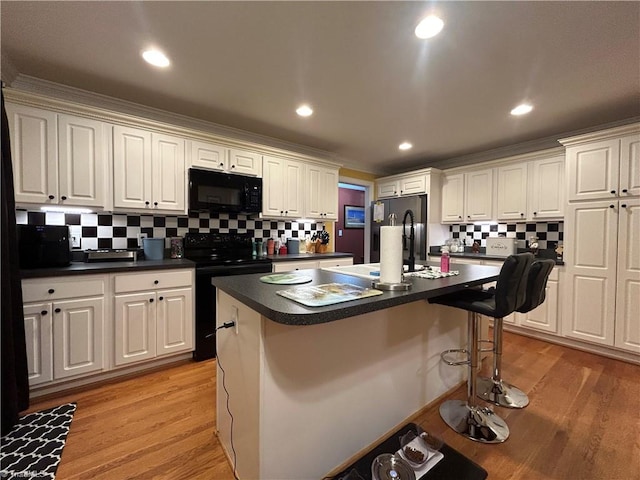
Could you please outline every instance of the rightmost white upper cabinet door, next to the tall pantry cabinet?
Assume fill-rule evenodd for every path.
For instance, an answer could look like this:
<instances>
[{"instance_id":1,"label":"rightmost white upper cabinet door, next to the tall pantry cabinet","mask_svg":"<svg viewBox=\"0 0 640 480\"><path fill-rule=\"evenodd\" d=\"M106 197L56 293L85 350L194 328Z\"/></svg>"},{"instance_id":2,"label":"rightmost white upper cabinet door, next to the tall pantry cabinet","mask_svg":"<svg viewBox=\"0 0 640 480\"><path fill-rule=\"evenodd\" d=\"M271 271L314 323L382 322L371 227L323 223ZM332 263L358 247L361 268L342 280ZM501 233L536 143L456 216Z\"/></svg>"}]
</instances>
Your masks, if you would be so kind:
<instances>
[{"instance_id":1,"label":"rightmost white upper cabinet door, next to the tall pantry cabinet","mask_svg":"<svg viewBox=\"0 0 640 480\"><path fill-rule=\"evenodd\" d=\"M537 160L531 165L529 218L564 217L564 157Z\"/></svg>"}]
</instances>

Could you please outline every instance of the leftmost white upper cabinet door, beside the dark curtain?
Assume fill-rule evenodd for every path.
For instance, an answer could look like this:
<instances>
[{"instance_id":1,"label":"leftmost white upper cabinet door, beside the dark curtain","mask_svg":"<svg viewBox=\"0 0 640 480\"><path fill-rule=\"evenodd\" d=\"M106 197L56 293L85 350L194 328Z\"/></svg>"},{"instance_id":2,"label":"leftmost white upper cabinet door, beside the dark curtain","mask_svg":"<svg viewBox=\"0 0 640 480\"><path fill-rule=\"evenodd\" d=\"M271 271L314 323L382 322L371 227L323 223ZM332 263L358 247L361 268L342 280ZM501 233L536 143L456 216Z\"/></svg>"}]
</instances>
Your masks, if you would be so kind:
<instances>
[{"instance_id":1,"label":"leftmost white upper cabinet door, beside the dark curtain","mask_svg":"<svg viewBox=\"0 0 640 480\"><path fill-rule=\"evenodd\" d=\"M16 203L58 203L56 114L6 104Z\"/></svg>"}]
</instances>

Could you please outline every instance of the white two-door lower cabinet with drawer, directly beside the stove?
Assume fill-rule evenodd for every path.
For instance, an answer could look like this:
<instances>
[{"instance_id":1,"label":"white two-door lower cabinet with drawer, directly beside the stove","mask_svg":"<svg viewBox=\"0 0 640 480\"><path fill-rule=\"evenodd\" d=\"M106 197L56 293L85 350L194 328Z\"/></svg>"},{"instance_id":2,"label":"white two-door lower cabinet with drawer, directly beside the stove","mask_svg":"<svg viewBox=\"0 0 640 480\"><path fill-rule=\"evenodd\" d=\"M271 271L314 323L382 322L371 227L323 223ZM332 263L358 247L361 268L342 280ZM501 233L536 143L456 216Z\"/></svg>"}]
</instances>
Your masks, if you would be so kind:
<instances>
[{"instance_id":1,"label":"white two-door lower cabinet with drawer, directly beside the stove","mask_svg":"<svg viewBox=\"0 0 640 480\"><path fill-rule=\"evenodd\" d=\"M192 270L114 277L116 366L193 350Z\"/></svg>"}]
</instances>

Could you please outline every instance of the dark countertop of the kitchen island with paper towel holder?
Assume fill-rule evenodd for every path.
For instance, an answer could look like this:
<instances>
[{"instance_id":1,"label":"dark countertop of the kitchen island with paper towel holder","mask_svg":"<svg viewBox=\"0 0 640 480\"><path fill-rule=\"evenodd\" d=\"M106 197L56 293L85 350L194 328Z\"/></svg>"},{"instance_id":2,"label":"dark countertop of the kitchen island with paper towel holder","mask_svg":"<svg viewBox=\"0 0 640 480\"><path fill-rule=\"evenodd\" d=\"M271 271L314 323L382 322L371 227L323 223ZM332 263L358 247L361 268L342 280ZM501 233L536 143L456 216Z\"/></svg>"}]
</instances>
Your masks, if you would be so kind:
<instances>
[{"instance_id":1,"label":"dark countertop of the kitchen island with paper towel holder","mask_svg":"<svg viewBox=\"0 0 640 480\"><path fill-rule=\"evenodd\" d=\"M435 262L430 262L436 266ZM412 287L402 292L384 292L382 295L353 300L350 302L328 305L326 307L306 307L287 298L277 295L278 290L293 288L294 285L272 285L262 283L264 274L237 275L230 277L214 277L211 283L241 301L249 308L257 311L274 322L286 325L315 325L333 322L363 313L383 310L405 303L426 300L468 286L481 285L497 280L500 269L484 265L456 265L459 275L439 278L409 278ZM299 270L298 273L308 275L313 280L306 285L322 285L326 283L348 283L362 287L370 287L371 281L365 278L328 272L321 269Z\"/></svg>"}]
</instances>

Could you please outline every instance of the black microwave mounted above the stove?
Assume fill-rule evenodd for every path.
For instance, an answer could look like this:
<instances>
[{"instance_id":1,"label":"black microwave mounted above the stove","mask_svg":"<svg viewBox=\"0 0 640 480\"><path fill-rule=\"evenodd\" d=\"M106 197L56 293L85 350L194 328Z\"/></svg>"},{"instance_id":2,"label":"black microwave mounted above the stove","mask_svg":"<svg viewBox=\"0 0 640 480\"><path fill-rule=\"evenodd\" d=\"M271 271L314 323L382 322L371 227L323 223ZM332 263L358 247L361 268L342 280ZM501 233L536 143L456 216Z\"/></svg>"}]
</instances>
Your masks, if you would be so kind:
<instances>
[{"instance_id":1,"label":"black microwave mounted above the stove","mask_svg":"<svg viewBox=\"0 0 640 480\"><path fill-rule=\"evenodd\" d=\"M190 168L189 210L211 213L260 213L262 179Z\"/></svg>"}]
</instances>

